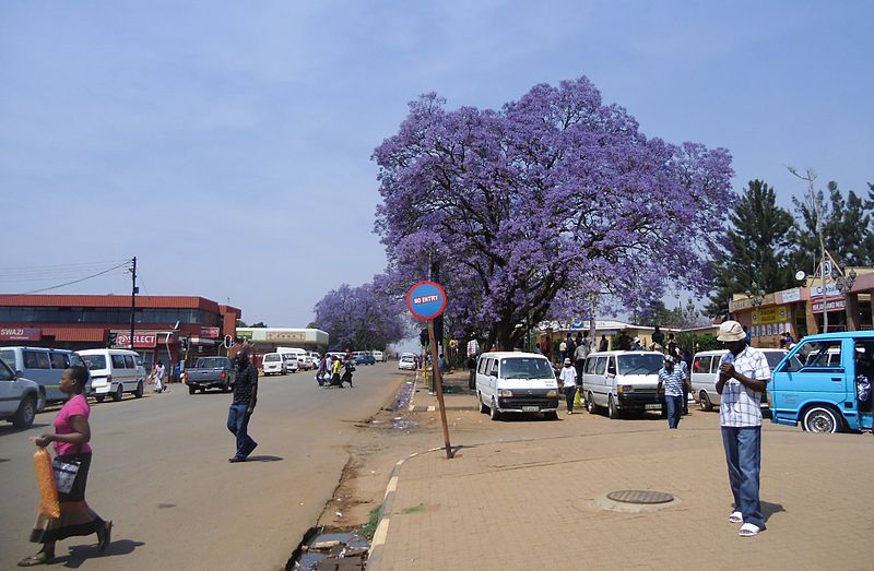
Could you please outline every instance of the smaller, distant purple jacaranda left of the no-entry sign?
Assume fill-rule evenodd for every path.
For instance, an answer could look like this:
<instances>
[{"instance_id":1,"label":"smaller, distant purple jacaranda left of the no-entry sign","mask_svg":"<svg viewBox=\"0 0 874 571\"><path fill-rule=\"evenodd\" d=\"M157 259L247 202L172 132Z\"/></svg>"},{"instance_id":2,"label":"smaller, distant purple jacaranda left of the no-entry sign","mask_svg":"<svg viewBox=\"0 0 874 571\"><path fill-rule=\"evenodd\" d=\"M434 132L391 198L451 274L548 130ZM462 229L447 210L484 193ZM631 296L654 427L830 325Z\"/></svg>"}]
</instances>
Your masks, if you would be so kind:
<instances>
[{"instance_id":1,"label":"smaller, distant purple jacaranda left of the no-entry sign","mask_svg":"<svg viewBox=\"0 0 874 571\"><path fill-rule=\"evenodd\" d=\"M374 284L343 284L316 304L315 323L330 335L331 349L385 349L408 335L402 306Z\"/></svg>"}]
</instances>

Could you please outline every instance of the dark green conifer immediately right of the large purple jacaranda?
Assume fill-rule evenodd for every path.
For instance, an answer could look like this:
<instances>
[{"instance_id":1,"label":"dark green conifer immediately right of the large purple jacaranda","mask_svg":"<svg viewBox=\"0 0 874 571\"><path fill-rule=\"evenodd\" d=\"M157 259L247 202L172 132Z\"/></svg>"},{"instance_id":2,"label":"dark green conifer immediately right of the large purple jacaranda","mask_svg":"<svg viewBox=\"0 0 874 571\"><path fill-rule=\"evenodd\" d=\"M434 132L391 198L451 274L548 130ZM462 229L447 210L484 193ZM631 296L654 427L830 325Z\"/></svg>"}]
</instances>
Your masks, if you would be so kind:
<instances>
[{"instance_id":1,"label":"dark green conifer immediately right of the large purple jacaranda","mask_svg":"<svg viewBox=\"0 0 874 571\"><path fill-rule=\"evenodd\" d=\"M729 215L730 226L713 249L716 288L705 312L728 318L732 294L752 287L753 282L765 292L791 287L793 266L790 230L793 218L777 206L773 189L761 180L751 180Z\"/></svg>"}]
</instances>

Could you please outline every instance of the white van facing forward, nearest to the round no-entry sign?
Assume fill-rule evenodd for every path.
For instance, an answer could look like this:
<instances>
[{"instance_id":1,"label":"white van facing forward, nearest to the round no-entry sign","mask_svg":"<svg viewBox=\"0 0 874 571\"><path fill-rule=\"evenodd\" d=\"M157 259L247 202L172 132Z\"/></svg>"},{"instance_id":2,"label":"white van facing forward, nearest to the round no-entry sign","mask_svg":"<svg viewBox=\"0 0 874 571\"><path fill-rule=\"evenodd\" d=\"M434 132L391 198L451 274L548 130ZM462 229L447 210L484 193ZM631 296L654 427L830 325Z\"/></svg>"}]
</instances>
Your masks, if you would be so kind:
<instances>
[{"instance_id":1,"label":"white van facing forward, nearest to the round no-entry sign","mask_svg":"<svg viewBox=\"0 0 874 571\"><path fill-rule=\"evenodd\" d=\"M480 412L545 413L558 419L558 381L550 360L534 353L484 353L476 361Z\"/></svg>"}]
</instances>

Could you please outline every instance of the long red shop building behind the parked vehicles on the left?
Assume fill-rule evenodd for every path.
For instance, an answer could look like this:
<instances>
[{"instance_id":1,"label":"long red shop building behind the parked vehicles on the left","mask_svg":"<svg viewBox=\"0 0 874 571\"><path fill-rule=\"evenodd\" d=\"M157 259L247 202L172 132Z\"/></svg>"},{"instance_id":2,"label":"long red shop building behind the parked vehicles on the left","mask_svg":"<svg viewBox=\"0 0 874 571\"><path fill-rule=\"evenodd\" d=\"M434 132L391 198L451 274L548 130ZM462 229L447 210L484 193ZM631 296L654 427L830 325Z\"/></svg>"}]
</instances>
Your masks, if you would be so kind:
<instances>
[{"instance_id":1,"label":"long red shop building behind the parked vehicles on the left","mask_svg":"<svg viewBox=\"0 0 874 571\"><path fill-rule=\"evenodd\" d=\"M0 346L66 349L131 346L130 296L0 295ZM133 349L173 367L224 354L241 311L193 296L137 296Z\"/></svg>"}]
</instances>

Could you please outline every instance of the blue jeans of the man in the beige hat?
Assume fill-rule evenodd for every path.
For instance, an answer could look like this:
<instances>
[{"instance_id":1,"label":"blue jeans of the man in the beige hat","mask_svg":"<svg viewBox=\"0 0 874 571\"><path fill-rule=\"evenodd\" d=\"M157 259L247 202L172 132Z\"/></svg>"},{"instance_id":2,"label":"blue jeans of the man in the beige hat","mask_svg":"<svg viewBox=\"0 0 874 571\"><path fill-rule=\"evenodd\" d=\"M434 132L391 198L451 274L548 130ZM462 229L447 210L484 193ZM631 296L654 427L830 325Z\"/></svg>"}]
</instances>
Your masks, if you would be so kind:
<instances>
[{"instance_id":1,"label":"blue jeans of the man in the beige hat","mask_svg":"<svg viewBox=\"0 0 874 571\"><path fill-rule=\"evenodd\" d=\"M729 465L729 484L734 496L734 509L744 516L744 523L765 527L761 503L758 499L761 471L761 427L722 427L722 444Z\"/></svg>"}]
</instances>

